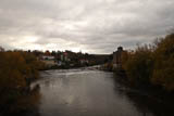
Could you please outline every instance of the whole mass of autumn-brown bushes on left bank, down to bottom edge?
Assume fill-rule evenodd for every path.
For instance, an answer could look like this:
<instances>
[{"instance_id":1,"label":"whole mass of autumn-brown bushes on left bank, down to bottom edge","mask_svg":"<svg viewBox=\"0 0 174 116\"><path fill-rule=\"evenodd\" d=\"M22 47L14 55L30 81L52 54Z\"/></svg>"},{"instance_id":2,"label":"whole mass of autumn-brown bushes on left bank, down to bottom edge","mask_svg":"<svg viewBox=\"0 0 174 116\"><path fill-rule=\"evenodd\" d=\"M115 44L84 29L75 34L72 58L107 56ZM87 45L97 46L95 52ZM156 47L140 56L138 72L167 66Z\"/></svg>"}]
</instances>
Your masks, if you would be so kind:
<instances>
[{"instance_id":1,"label":"whole mass of autumn-brown bushes on left bank, down to bottom edge","mask_svg":"<svg viewBox=\"0 0 174 116\"><path fill-rule=\"evenodd\" d=\"M0 52L0 115L34 108L39 93L38 87L30 90L30 83L39 78L44 65L32 53Z\"/></svg>"}]
</instances>

